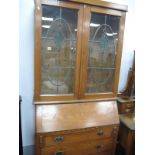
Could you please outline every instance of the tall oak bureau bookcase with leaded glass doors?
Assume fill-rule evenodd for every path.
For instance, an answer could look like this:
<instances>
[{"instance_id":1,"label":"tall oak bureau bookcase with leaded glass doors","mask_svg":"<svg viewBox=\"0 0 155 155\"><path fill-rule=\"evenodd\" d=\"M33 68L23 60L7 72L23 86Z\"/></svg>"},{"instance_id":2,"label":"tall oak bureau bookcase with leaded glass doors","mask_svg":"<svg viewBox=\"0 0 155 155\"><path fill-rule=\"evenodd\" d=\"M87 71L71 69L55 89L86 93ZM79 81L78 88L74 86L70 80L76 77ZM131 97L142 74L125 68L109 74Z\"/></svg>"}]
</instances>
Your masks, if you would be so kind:
<instances>
[{"instance_id":1,"label":"tall oak bureau bookcase with leaded glass doors","mask_svg":"<svg viewBox=\"0 0 155 155\"><path fill-rule=\"evenodd\" d=\"M114 155L126 11L35 0L36 155Z\"/></svg>"}]
</instances>

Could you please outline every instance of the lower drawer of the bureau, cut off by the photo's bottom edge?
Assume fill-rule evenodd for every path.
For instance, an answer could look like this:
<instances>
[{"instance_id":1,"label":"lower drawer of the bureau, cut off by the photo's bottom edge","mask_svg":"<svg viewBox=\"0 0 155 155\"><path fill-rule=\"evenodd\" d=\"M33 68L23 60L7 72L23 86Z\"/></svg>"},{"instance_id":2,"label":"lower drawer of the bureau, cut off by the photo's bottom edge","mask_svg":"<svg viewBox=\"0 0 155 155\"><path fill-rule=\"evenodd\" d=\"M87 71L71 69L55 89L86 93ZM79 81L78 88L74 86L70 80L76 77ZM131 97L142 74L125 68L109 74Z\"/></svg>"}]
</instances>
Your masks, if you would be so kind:
<instances>
[{"instance_id":1,"label":"lower drawer of the bureau, cut off by the photo's bottom edge","mask_svg":"<svg viewBox=\"0 0 155 155\"><path fill-rule=\"evenodd\" d=\"M93 155L113 149L112 139L51 146L42 149L41 155Z\"/></svg>"}]
</instances>

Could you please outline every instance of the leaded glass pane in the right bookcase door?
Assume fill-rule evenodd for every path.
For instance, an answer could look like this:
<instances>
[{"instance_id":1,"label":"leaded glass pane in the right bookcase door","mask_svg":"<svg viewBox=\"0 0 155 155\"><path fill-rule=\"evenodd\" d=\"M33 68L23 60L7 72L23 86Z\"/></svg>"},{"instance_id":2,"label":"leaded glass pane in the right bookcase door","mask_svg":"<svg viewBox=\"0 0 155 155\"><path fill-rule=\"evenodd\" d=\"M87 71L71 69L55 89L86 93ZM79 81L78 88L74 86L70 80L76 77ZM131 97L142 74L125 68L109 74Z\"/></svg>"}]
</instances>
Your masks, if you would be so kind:
<instances>
[{"instance_id":1,"label":"leaded glass pane in the right bookcase door","mask_svg":"<svg viewBox=\"0 0 155 155\"><path fill-rule=\"evenodd\" d=\"M87 93L113 91L118 30L119 17L91 14Z\"/></svg>"}]
</instances>

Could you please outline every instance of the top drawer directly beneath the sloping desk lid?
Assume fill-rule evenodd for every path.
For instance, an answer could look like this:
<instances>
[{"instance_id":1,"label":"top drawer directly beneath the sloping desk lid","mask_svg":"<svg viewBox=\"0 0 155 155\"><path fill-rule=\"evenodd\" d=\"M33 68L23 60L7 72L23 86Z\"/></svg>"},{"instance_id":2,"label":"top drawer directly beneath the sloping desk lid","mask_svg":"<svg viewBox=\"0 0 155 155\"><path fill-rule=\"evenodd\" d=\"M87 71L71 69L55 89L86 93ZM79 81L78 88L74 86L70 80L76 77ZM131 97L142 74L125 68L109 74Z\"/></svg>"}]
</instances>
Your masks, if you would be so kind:
<instances>
[{"instance_id":1,"label":"top drawer directly beneath the sloping desk lid","mask_svg":"<svg viewBox=\"0 0 155 155\"><path fill-rule=\"evenodd\" d=\"M79 131L68 131L51 134L40 135L41 147L52 146L57 144L67 144L74 142L82 142L88 140L99 140L104 138L112 138L117 134L118 126L107 126L90 129L81 129Z\"/></svg>"}]
</instances>

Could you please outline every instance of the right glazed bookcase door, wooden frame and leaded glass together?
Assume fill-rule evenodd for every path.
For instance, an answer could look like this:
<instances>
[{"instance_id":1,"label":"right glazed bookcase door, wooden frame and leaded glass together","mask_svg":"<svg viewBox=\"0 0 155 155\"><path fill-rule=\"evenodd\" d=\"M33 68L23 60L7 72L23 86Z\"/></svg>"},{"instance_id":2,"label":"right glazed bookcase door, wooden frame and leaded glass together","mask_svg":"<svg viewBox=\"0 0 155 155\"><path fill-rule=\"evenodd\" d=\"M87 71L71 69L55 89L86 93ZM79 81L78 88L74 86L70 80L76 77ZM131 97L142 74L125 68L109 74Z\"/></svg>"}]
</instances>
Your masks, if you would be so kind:
<instances>
[{"instance_id":1,"label":"right glazed bookcase door, wooden frame and leaded glass together","mask_svg":"<svg viewBox=\"0 0 155 155\"><path fill-rule=\"evenodd\" d=\"M81 67L81 98L117 95L121 56L121 12L86 7Z\"/></svg>"}]
</instances>

